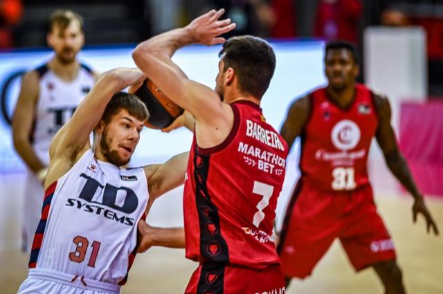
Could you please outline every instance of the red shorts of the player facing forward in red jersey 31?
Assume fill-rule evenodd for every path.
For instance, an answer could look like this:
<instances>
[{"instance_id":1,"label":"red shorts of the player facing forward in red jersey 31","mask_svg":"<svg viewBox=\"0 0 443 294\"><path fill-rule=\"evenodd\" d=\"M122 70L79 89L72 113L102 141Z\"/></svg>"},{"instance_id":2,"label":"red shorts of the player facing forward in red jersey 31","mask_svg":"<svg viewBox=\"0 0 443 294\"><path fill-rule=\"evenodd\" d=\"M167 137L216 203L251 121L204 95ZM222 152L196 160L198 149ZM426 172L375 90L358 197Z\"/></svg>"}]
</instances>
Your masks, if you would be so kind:
<instances>
[{"instance_id":1,"label":"red shorts of the player facing forward in red jersey 31","mask_svg":"<svg viewBox=\"0 0 443 294\"><path fill-rule=\"evenodd\" d=\"M356 270L395 259L388 230L377 213L372 187L351 192L318 191L300 181L289 202L278 253L288 277L303 279L340 239Z\"/></svg>"}]
</instances>

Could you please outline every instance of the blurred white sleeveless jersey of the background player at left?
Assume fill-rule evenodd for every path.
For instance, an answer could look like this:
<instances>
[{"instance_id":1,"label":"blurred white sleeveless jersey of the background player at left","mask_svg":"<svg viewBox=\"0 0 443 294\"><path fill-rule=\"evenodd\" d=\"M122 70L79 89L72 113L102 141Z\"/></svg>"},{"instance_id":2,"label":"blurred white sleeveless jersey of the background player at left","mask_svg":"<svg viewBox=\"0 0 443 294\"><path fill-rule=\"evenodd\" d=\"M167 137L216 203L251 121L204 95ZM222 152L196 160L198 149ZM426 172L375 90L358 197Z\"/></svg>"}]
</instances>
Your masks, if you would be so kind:
<instances>
[{"instance_id":1,"label":"blurred white sleeveless jersey of the background player at left","mask_svg":"<svg viewBox=\"0 0 443 294\"><path fill-rule=\"evenodd\" d=\"M39 73L39 97L31 141L39 160L48 166L53 136L71 118L78 104L92 89L95 78L84 64L80 64L78 75L71 82L60 79L47 64L36 71Z\"/></svg>"}]
</instances>

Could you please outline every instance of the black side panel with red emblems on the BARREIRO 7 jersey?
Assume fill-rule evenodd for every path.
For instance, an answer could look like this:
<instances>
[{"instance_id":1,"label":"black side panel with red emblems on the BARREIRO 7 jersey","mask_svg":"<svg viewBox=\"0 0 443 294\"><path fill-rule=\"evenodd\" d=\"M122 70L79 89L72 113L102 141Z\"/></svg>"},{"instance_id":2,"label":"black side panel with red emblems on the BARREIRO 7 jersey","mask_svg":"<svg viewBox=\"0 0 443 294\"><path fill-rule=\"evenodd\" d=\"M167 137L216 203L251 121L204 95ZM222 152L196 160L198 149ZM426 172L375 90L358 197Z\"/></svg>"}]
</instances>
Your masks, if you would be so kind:
<instances>
[{"instance_id":1,"label":"black side panel with red emblems on the BARREIRO 7 jersey","mask_svg":"<svg viewBox=\"0 0 443 294\"><path fill-rule=\"evenodd\" d=\"M210 156L199 154L197 149L196 143L192 160L194 162L195 201L199 214L200 254L204 261L228 263L228 244L221 236L217 207L210 200L206 186Z\"/></svg>"}]
</instances>

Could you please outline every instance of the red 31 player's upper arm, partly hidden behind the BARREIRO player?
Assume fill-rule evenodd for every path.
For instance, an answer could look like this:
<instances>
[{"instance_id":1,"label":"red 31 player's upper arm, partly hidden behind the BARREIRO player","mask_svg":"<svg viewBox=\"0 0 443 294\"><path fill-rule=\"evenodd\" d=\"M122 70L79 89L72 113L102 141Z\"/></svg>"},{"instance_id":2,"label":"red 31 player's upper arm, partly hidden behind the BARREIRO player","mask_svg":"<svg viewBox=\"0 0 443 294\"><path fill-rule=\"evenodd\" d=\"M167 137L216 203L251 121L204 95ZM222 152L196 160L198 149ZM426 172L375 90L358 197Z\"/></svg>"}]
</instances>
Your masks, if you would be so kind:
<instances>
[{"instance_id":1,"label":"red 31 player's upper arm, partly hidden behind the BARREIRO player","mask_svg":"<svg viewBox=\"0 0 443 294\"><path fill-rule=\"evenodd\" d=\"M310 113L311 103L308 96L294 101L289 107L286 120L280 130L280 135L288 144L289 150L291 150L293 141L302 133Z\"/></svg>"}]
</instances>

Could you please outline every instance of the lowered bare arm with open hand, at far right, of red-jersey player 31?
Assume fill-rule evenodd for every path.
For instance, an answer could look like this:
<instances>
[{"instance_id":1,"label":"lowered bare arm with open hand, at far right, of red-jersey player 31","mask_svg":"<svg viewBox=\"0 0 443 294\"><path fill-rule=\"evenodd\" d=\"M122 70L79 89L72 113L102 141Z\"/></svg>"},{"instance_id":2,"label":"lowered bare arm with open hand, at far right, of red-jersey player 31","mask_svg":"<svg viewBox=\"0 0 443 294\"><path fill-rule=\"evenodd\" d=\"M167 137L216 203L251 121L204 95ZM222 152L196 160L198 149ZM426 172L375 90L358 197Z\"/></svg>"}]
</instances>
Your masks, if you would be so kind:
<instances>
[{"instance_id":1,"label":"lowered bare arm with open hand, at far right, of red-jersey player 31","mask_svg":"<svg viewBox=\"0 0 443 294\"><path fill-rule=\"evenodd\" d=\"M388 165L392 174L394 174L400 183L406 187L406 190L414 197L413 221L414 223L417 221L418 214L423 214L426 219L427 232L432 228L435 235L438 235L437 225L431 216L431 212L426 208L423 196L417 189L413 176L410 174L408 163L406 163L406 160L401 155L397 145L394 130L390 125L391 110L389 101L385 97L374 95L374 104L377 107L379 118L379 126L376 134L377 143L379 143L381 151L383 151L386 165Z\"/></svg>"}]
</instances>

